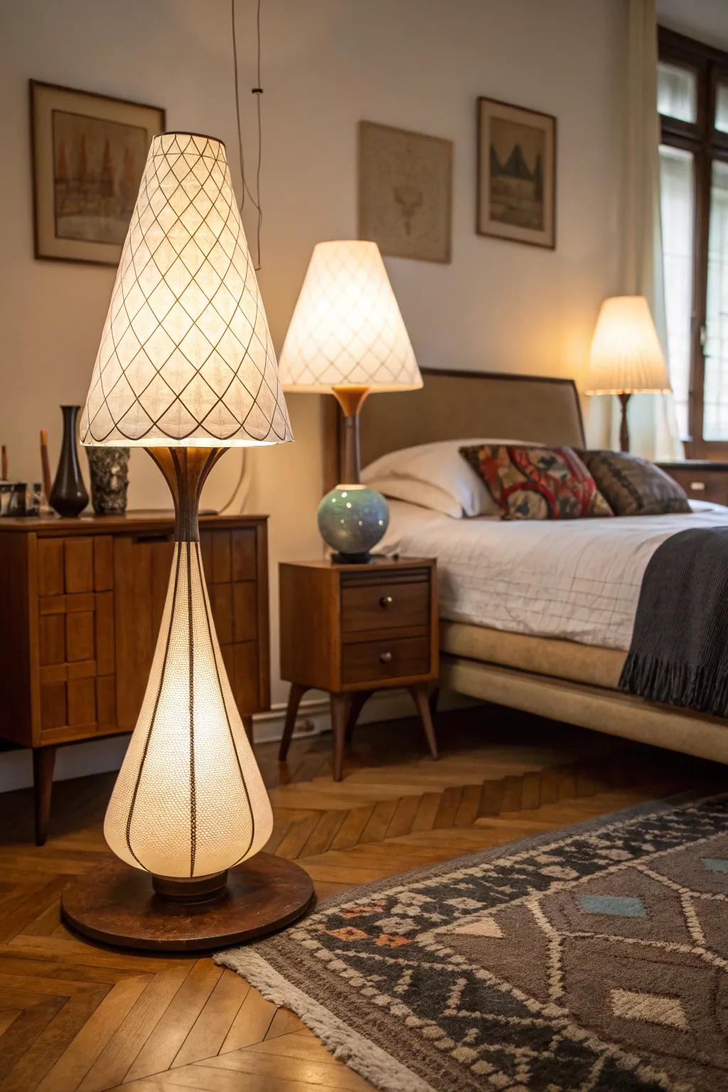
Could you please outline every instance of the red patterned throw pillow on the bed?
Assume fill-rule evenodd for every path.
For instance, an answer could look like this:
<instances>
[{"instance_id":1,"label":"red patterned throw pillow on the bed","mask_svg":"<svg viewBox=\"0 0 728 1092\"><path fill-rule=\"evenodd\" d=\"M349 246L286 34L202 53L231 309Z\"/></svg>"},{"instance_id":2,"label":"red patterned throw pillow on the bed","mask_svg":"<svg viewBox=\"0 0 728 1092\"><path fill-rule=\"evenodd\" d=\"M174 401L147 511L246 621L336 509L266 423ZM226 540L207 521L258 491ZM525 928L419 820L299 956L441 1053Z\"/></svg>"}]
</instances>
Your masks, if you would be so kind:
<instances>
[{"instance_id":1,"label":"red patterned throw pillow on the bed","mask_svg":"<svg viewBox=\"0 0 728 1092\"><path fill-rule=\"evenodd\" d=\"M461 448L506 520L578 520L613 515L571 448Z\"/></svg>"}]
</instances>

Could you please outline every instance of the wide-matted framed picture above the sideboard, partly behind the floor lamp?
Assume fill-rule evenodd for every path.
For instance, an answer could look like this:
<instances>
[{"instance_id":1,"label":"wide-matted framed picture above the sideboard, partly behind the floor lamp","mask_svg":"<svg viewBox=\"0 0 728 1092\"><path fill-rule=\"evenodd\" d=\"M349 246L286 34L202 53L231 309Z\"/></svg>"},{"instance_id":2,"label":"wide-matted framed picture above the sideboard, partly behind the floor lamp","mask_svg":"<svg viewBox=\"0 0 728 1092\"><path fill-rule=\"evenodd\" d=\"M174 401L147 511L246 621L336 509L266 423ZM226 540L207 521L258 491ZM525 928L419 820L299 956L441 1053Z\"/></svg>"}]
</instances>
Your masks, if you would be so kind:
<instances>
[{"instance_id":1,"label":"wide-matted framed picture above the sideboard, partly behind the floor lamp","mask_svg":"<svg viewBox=\"0 0 728 1092\"><path fill-rule=\"evenodd\" d=\"M117 265L165 111L31 80L35 257Z\"/></svg>"}]
</instances>

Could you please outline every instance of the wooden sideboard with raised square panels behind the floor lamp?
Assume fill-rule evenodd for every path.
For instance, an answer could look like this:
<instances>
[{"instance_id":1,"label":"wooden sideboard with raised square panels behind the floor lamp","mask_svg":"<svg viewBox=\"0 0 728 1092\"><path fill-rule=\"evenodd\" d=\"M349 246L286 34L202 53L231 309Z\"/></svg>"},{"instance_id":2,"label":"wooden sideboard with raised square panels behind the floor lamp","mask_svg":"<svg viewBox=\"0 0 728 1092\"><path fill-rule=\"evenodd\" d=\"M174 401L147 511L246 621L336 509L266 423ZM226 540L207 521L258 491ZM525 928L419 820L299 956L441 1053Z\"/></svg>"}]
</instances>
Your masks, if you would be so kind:
<instances>
[{"instance_id":1,"label":"wooden sideboard with raised square panels behind the floor lamp","mask_svg":"<svg viewBox=\"0 0 728 1092\"><path fill-rule=\"evenodd\" d=\"M59 745L131 732L172 556L171 514L0 520L0 738L33 748L36 841ZM267 518L203 515L223 660L252 737L270 709Z\"/></svg>"}]
</instances>

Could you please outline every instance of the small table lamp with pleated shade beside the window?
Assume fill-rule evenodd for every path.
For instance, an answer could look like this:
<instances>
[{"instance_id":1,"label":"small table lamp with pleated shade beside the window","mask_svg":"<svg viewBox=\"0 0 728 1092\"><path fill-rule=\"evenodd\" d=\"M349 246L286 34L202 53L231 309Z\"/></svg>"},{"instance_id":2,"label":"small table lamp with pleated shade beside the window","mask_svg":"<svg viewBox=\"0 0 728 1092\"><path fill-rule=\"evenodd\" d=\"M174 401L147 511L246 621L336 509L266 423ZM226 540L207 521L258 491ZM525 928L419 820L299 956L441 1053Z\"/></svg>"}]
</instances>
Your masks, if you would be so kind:
<instances>
[{"instance_id":1,"label":"small table lamp with pleated shade beside the window","mask_svg":"<svg viewBox=\"0 0 728 1092\"><path fill-rule=\"evenodd\" d=\"M630 450L626 405L632 394L669 391L657 331L644 296L605 299L592 339L585 394L617 394L620 449Z\"/></svg>"}]
</instances>

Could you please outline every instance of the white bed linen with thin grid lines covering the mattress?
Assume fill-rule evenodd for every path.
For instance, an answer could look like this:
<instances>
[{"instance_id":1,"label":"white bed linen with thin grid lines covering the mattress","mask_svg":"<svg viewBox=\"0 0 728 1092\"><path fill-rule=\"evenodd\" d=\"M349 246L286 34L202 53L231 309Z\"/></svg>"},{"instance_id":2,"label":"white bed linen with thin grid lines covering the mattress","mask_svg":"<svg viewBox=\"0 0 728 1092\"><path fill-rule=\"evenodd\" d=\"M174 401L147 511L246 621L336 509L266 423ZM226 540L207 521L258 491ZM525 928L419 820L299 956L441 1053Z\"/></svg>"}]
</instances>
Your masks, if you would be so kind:
<instances>
[{"instance_id":1,"label":"white bed linen with thin grid lines covering the mattress","mask_svg":"<svg viewBox=\"0 0 728 1092\"><path fill-rule=\"evenodd\" d=\"M728 508L593 520L453 520L390 503L378 553L435 557L440 617L610 649L630 648L642 577L660 543L728 526Z\"/></svg>"}]
</instances>

